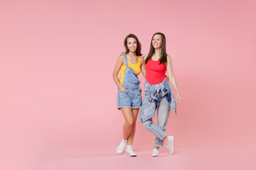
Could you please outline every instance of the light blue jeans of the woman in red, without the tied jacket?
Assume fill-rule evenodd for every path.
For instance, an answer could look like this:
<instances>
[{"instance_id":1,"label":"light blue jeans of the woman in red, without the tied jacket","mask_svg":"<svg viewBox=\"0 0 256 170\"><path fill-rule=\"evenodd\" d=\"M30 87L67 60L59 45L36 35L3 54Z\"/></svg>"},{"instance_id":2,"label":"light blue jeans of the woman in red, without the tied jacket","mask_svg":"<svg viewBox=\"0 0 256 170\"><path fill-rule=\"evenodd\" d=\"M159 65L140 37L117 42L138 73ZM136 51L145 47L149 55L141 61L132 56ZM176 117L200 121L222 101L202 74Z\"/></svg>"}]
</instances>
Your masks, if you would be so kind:
<instances>
[{"instance_id":1,"label":"light blue jeans of the woman in red, without the tied jacket","mask_svg":"<svg viewBox=\"0 0 256 170\"><path fill-rule=\"evenodd\" d=\"M152 118L149 118L149 120L146 120L142 123L144 128L146 130L149 130L149 132L153 133L156 136L156 142L154 143L154 146L156 147L162 147L164 145L164 137L166 137L166 125L167 120L170 115L171 106L169 101L167 100L166 96L163 96L159 99L159 102L156 103L157 108L157 117L158 117L158 125L156 126ZM154 109L156 109L154 108Z\"/></svg>"}]
</instances>

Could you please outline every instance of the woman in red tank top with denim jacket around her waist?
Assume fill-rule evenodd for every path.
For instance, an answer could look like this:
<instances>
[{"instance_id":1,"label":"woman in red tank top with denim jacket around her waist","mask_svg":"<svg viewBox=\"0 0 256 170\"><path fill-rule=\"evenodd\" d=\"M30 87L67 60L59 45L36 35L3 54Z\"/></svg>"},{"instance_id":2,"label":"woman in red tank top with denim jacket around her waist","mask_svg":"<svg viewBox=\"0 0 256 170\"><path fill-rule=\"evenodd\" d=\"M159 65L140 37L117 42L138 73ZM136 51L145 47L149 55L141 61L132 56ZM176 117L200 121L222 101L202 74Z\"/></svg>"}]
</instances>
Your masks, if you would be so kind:
<instances>
[{"instance_id":1,"label":"woman in red tank top with denim jacket around her waist","mask_svg":"<svg viewBox=\"0 0 256 170\"><path fill-rule=\"evenodd\" d=\"M159 156L159 147L164 143L173 152L173 137L166 135L166 125L171 109L176 111L176 101L181 105L181 95L172 69L171 57L166 54L166 38L163 33L155 33L151 38L151 47L146 60L146 84L143 105L139 114L139 121L144 127L156 136L152 156ZM171 86L165 79L166 71L169 81L176 91L176 101ZM157 109L158 125L152 122Z\"/></svg>"}]
</instances>

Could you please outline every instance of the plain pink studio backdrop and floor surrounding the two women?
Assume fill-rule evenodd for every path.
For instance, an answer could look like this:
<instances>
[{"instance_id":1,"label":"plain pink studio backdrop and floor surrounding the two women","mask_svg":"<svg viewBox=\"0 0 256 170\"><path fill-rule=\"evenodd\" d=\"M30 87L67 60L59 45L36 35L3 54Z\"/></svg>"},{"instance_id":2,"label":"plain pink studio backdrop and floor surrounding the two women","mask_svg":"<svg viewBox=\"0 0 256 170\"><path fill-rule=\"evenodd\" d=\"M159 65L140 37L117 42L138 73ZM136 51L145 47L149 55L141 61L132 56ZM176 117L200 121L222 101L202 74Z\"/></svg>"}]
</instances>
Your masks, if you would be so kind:
<instances>
[{"instance_id":1,"label":"plain pink studio backdrop and floor surrounding the two women","mask_svg":"<svg viewBox=\"0 0 256 170\"><path fill-rule=\"evenodd\" d=\"M0 169L256 169L255 1L0 1ZM112 71L162 32L183 99L165 147L124 118ZM144 89L144 78L141 87Z\"/></svg>"}]
</instances>

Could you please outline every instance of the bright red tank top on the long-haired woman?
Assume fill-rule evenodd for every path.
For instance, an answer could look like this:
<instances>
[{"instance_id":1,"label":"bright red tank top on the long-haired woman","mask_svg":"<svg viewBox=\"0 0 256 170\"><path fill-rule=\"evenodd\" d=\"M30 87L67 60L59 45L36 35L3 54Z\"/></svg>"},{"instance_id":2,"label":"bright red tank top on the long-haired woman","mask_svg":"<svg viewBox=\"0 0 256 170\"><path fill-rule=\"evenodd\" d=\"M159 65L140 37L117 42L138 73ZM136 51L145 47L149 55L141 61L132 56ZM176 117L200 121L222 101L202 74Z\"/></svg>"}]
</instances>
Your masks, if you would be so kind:
<instances>
[{"instance_id":1,"label":"bright red tank top on the long-haired woman","mask_svg":"<svg viewBox=\"0 0 256 170\"><path fill-rule=\"evenodd\" d=\"M159 63L160 61L154 61L152 59L149 59L146 63L146 81L151 85L163 82L166 76L166 64Z\"/></svg>"}]
</instances>

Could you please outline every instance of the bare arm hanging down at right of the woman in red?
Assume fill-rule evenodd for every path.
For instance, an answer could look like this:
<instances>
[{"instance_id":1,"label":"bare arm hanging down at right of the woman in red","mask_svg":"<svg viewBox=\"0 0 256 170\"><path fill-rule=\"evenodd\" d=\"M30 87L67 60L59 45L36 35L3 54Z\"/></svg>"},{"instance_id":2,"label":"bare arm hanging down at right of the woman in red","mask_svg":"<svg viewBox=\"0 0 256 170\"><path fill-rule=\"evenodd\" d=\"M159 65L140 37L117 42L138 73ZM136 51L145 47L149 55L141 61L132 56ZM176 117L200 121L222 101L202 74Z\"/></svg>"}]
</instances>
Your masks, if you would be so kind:
<instances>
[{"instance_id":1,"label":"bare arm hanging down at right of the woman in red","mask_svg":"<svg viewBox=\"0 0 256 170\"><path fill-rule=\"evenodd\" d=\"M174 76L174 70L172 68L172 62L171 62L171 57L167 55L167 72L169 74L169 80L171 81L171 85L174 86L175 91L177 92L177 101L178 101L178 106L181 105L181 95L180 92L178 91L178 84L176 81L176 77Z\"/></svg>"}]
</instances>

